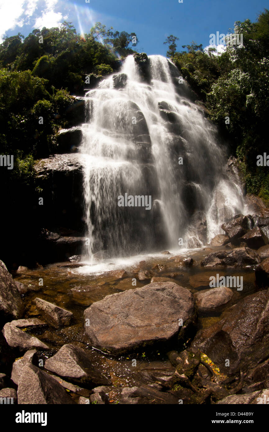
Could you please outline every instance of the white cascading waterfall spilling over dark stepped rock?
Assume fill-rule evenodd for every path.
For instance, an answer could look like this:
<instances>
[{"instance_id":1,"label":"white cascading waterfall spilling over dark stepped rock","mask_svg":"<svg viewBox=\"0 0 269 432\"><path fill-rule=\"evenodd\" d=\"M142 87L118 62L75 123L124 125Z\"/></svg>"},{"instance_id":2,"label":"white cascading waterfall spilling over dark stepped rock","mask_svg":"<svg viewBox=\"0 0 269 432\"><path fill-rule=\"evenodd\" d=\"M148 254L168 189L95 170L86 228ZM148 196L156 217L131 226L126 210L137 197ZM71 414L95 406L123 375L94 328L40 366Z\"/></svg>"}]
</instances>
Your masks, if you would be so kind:
<instances>
[{"instance_id":1,"label":"white cascading waterfall spilling over dark stepped rock","mask_svg":"<svg viewBox=\"0 0 269 432\"><path fill-rule=\"evenodd\" d=\"M243 210L215 126L177 68L161 56L150 56L149 67L145 79L129 56L119 73L85 95L80 153L88 260L100 250L124 256L175 249L179 238L182 247L196 248ZM151 196L151 210L118 206L126 193Z\"/></svg>"}]
</instances>

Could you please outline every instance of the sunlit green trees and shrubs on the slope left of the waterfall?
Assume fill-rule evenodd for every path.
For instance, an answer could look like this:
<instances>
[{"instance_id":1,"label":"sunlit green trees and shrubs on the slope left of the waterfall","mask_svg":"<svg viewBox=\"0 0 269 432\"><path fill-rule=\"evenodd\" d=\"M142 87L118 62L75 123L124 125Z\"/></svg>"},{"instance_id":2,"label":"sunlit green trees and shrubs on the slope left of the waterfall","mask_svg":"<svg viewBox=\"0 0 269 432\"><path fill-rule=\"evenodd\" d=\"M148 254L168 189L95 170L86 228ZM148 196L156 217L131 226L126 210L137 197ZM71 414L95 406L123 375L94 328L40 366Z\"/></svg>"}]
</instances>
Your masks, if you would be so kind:
<instances>
[{"instance_id":1,"label":"sunlit green trees and shrubs on the slope left of the waterfall","mask_svg":"<svg viewBox=\"0 0 269 432\"><path fill-rule=\"evenodd\" d=\"M64 22L60 28L35 29L26 38L20 33L5 38L0 44L2 152L21 160L29 154L47 157L55 149L57 130L68 127L76 102L70 93L83 94L85 75L118 70L115 52L133 53L130 44L137 43L135 33L114 32L101 23L83 37Z\"/></svg>"}]
</instances>

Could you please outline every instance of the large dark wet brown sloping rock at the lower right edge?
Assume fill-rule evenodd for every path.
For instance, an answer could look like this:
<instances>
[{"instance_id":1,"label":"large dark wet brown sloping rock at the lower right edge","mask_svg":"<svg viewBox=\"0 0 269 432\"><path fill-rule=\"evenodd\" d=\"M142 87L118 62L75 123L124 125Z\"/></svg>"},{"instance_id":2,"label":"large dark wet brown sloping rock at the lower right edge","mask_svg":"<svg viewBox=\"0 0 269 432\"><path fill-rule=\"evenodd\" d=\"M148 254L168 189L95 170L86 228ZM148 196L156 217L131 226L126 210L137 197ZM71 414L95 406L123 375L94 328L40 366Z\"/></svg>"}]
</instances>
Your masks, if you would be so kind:
<instances>
[{"instance_id":1,"label":"large dark wet brown sloping rock at the lower right edge","mask_svg":"<svg viewBox=\"0 0 269 432\"><path fill-rule=\"evenodd\" d=\"M193 346L226 375L256 366L269 352L269 290L247 295L227 311L227 318L199 330ZM229 367L225 366L227 359Z\"/></svg>"}]
</instances>

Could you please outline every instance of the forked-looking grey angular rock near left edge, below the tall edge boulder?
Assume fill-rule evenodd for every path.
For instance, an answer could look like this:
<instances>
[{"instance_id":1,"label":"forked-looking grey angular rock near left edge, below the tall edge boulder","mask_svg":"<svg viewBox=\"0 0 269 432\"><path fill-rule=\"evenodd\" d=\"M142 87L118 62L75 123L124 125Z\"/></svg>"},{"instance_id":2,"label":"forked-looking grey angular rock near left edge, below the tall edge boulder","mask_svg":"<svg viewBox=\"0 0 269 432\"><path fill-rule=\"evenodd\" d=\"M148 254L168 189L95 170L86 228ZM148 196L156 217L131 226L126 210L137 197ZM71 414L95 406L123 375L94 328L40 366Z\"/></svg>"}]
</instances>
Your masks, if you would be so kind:
<instances>
[{"instance_id":1,"label":"forked-looking grey angular rock near left edge, below the tall edge boulder","mask_svg":"<svg viewBox=\"0 0 269 432\"><path fill-rule=\"evenodd\" d=\"M41 342L37 337L31 336L31 334L23 331L31 328L42 328L43 326L46 326L46 323L38 318L13 320L4 325L2 333L9 346L19 348L21 351L35 348L48 349L48 346Z\"/></svg>"}]
</instances>

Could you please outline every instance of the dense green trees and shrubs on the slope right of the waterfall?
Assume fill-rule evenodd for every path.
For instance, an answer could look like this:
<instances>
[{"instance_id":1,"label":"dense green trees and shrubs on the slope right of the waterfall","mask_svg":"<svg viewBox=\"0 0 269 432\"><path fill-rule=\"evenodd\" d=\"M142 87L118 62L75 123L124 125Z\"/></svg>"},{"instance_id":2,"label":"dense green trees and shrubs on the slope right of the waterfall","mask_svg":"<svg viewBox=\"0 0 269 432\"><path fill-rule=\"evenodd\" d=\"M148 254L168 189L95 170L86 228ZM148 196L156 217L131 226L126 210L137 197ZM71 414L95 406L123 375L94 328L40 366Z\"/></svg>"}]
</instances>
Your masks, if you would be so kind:
<instances>
[{"instance_id":1,"label":"dense green trees and shrubs on the slope right of the waterfall","mask_svg":"<svg viewBox=\"0 0 269 432\"><path fill-rule=\"evenodd\" d=\"M268 167L257 167L256 162L257 155L268 151L269 11L261 13L256 22L236 22L234 33L243 34L243 47L227 45L221 55L214 55L214 48L207 54L195 42L187 45L187 51L177 52L177 38L170 35L165 41L167 55L230 142L246 177L247 191L267 201Z\"/></svg>"}]
</instances>

